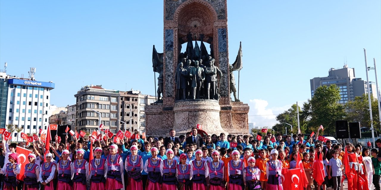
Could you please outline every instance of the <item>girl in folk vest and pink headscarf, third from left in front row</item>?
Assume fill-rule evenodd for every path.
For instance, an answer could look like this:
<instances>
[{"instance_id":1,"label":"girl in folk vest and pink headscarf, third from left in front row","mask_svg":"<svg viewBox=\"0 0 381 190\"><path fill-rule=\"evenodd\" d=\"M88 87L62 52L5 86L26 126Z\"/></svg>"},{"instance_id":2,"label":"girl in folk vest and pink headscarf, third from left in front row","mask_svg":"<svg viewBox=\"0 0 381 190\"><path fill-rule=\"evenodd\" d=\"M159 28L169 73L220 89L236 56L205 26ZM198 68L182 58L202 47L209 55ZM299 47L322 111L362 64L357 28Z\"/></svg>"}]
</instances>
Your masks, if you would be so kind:
<instances>
[{"instance_id":1,"label":"girl in folk vest and pink headscarf, third from left in front row","mask_svg":"<svg viewBox=\"0 0 381 190\"><path fill-rule=\"evenodd\" d=\"M56 173L56 165L53 163L53 154L48 153L45 155L45 158L46 162L40 167L40 175L38 179L44 190L54 190L52 179Z\"/></svg>"}]
</instances>

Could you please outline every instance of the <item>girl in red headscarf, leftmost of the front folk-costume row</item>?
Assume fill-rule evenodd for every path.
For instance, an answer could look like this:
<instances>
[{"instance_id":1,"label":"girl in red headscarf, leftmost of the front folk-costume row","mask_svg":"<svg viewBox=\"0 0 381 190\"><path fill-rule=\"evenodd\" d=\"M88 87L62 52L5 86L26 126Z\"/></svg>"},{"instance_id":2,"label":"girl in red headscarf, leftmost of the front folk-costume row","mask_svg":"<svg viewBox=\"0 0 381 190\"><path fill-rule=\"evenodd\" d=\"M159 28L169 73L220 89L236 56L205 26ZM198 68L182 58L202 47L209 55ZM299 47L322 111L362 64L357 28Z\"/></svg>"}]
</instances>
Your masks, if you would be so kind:
<instances>
[{"instance_id":1,"label":"girl in red headscarf, leftmost of the front folk-costume row","mask_svg":"<svg viewBox=\"0 0 381 190\"><path fill-rule=\"evenodd\" d=\"M2 168L1 174L4 174L3 190L16 190L16 175L20 173L21 167L17 161L17 154L12 153L8 156L9 162Z\"/></svg>"}]
</instances>

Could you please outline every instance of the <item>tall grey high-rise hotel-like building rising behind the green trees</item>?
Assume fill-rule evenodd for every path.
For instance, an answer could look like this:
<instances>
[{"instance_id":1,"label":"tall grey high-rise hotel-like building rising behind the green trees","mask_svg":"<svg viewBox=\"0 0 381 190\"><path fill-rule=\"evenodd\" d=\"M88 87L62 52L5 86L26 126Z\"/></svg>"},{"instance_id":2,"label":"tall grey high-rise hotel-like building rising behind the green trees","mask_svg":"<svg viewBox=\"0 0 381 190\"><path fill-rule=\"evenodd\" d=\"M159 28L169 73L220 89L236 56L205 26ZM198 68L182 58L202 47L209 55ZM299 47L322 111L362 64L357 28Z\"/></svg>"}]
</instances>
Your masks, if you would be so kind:
<instances>
[{"instance_id":1,"label":"tall grey high-rise hotel-like building rising behind the green trees","mask_svg":"<svg viewBox=\"0 0 381 190\"><path fill-rule=\"evenodd\" d=\"M341 69L330 68L327 77L315 77L310 80L311 84L311 97L314 97L314 92L320 86L330 86L336 84L340 90L339 103L344 104L349 100L354 100L357 96L362 96L367 93L367 81L363 81L361 78L355 77L355 69L348 68L344 65ZM373 97L377 98L377 94L373 93L373 89L376 89L374 82L369 82L370 93Z\"/></svg>"}]
</instances>

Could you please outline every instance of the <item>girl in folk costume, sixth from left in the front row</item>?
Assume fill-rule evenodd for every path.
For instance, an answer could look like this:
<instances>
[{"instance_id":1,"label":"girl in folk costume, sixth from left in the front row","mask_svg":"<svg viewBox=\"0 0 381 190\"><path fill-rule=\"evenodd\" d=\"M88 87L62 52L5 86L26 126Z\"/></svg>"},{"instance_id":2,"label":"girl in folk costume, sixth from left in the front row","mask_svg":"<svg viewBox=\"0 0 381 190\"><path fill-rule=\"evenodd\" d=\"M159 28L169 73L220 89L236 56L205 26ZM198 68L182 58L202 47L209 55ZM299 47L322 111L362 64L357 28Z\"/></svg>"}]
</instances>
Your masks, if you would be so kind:
<instances>
[{"instance_id":1,"label":"girl in folk costume, sixth from left in the front row","mask_svg":"<svg viewBox=\"0 0 381 190\"><path fill-rule=\"evenodd\" d=\"M63 153L62 153L63 154ZM90 161L91 173L91 190L104 190L107 176L107 163L106 159L102 158L102 148L96 147L94 149L95 158Z\"/></svg>"}]
</instances>

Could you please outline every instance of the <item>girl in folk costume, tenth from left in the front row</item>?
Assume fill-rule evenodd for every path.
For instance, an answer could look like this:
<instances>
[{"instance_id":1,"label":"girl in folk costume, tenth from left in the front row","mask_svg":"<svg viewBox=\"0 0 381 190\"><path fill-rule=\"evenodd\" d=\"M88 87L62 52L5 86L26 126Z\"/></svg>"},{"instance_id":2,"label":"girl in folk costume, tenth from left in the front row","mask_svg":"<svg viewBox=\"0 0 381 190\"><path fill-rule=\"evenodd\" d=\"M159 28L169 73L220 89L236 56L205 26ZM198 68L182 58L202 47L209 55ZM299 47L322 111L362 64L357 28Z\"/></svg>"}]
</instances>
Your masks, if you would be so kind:
<instances>
[{"instance_id":1,"label":"girl in folk costume, tenth from left in the front row","mask_svg":"<svg viewBox=\"0 0 381 190\"><path fill-rule=\"evenodd\" d=\"M173 150L166 150L166 160L162 160L160 163L160 173L163 177L162 190L176 190L176 160L173 160Z\"/></svg>"}]
</instances>

